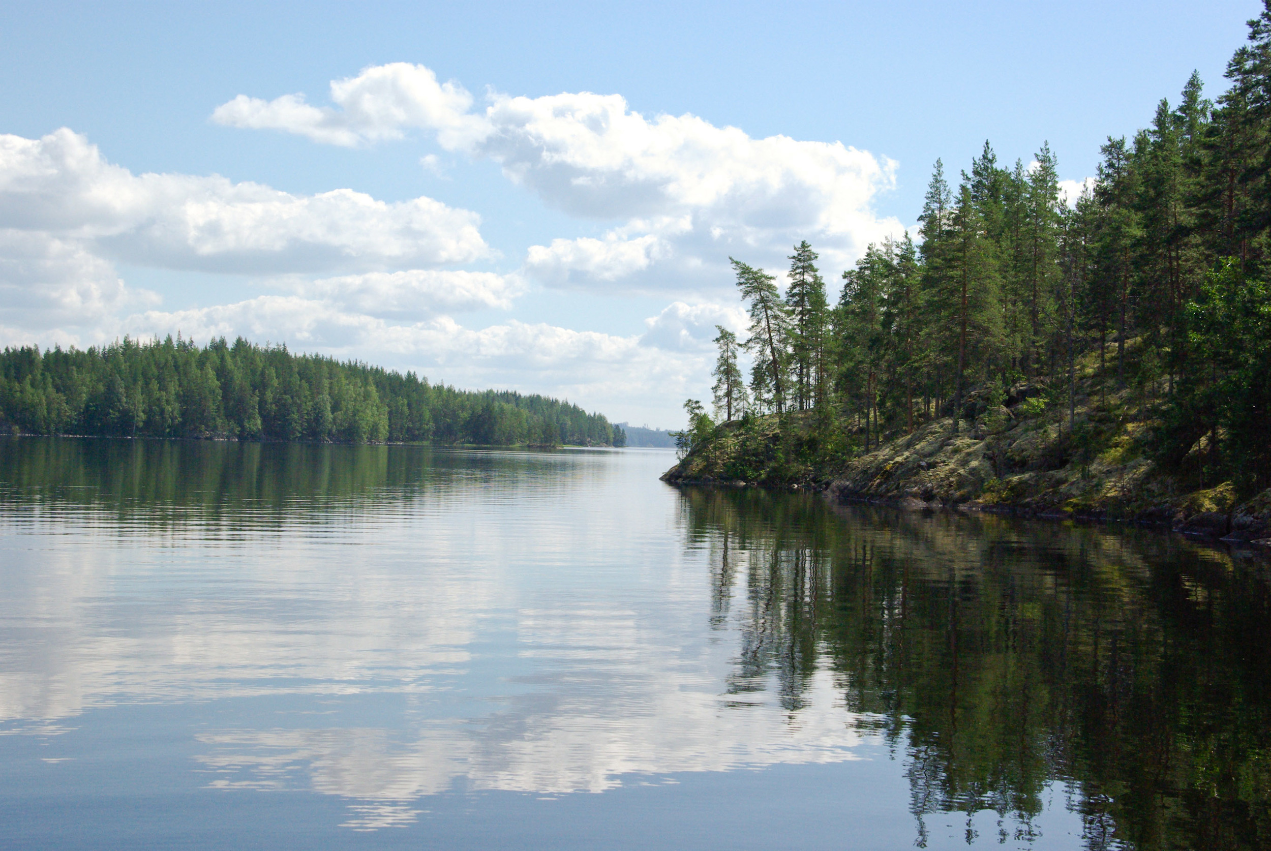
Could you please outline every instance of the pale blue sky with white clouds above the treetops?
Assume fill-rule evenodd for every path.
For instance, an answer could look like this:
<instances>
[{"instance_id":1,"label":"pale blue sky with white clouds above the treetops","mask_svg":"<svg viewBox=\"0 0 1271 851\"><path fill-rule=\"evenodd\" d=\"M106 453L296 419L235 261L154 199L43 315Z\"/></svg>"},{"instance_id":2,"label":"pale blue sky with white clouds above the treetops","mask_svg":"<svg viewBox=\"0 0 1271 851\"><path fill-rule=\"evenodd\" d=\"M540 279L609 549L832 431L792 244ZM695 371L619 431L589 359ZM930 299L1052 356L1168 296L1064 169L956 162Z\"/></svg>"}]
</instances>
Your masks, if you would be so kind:
<instances>
[{"instance_id":1,"label":"pale blue sky with white clouds above the treetops","mask_svg":"<svg viewBox=\"0 0 1271 851\"><path fill-rule=\"evenodd\" d=\"M1260 3L0 6L0 345L180 333L683 424L728 259L836 297L932 166L1068 185Z\"/></svg>"}]
</instances>

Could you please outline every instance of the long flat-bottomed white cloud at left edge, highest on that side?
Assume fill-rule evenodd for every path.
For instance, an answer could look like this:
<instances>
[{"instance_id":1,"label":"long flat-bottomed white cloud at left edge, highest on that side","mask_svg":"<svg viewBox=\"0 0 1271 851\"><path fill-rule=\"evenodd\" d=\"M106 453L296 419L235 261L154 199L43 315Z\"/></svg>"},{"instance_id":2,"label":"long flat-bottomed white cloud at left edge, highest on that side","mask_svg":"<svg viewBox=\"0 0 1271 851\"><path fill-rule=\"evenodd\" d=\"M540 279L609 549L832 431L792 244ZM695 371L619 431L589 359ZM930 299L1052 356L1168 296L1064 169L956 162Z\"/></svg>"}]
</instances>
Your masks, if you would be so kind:
<instances>
[{"instance_id":1,"label":"long flat-bottomed white cloud at left edge, highest on that side","mask_svg":"<svg viewBox=\"0 0 1271 851\"><path fill-rule=\"evenodd\" d=\"M295 196L219 175L141 174L70 130L0 136L0 227L81 240L165 268L328 272L463 263L489 254L479 217L432 198L352 189Z\"/></svg>"}]
</instances>

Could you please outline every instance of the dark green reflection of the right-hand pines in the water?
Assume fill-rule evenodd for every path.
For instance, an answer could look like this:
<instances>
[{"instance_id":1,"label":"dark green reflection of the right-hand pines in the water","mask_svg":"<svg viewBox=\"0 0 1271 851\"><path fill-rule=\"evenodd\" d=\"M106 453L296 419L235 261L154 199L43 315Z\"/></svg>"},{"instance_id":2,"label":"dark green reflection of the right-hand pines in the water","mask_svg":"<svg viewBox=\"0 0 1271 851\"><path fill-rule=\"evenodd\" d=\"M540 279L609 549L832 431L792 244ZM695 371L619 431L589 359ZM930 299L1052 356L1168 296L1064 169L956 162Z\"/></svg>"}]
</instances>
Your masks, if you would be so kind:
<instances>
[{"instance_id":1,"label":"dark green reflection of the right-hand pines in the water","mask_svg":"<svg viewBox=\"0 0 1271 851\"><path fill-rule=\"evenodd\" d=\"M727 535L746 565L732 688L775 677L793 713L831 668L862 724L904 749L920 842L924 814L982 809L1026 840L1056 781L1091 848L1271 837L1271 594L1257 569L1132 530L754 490L684 502L693 540Z\"/></svg>"}]
</instances>

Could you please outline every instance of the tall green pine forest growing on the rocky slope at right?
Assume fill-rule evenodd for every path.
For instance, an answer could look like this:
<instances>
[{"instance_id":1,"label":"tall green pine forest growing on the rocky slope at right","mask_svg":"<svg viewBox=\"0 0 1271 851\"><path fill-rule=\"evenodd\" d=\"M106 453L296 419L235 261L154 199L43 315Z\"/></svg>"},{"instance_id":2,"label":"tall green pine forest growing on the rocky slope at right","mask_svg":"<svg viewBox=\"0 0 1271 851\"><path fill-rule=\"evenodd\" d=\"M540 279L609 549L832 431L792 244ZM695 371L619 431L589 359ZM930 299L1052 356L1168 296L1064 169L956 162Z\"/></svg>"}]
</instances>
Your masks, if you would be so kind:
<instances>
[{"instance_id":1,"label":"tall green pine forest growing on the rocky slope at right","mask_svg":"<svg viewBox=\"0 0 1271 851\"><path fill-rule=\"evenodd\" d=\"M822 451L869 452L1021 389L1079 431L1089 373L1162 469L1271 485L1271 3L1227 79L1210 100L1193 74L1150 127L1110 137L1077 198L1046 144L1004 164L985 142L957 177L937 160L918 239L871 245L836 298L806 241L784 292L733 259L749 335L718 329L714 418L689 400L681 450L717 420L811 412Z\"/></svg>"}]
</instances>

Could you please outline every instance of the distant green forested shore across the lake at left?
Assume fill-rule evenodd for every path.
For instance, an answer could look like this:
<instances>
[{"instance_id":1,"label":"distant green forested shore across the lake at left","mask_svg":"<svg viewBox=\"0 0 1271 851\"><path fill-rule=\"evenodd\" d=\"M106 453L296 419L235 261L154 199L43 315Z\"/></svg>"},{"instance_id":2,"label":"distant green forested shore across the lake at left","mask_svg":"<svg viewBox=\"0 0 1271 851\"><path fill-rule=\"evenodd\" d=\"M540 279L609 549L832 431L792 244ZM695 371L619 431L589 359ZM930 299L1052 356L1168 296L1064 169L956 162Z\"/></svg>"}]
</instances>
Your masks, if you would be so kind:
<instances>
[{"instance_id":1,"label":"distant green forested shore across the lake at left","mask_svg":"<svg viewBox=\"0 0 1271 851\"><path fill-rule=\"evenodd\" d=\"M0 353L0 424L34 434L366 443L623 446L600 414L545 396L430 385L358 362L224 338Z\"/></svg>"}]
</instances>

